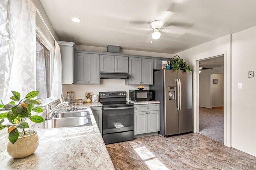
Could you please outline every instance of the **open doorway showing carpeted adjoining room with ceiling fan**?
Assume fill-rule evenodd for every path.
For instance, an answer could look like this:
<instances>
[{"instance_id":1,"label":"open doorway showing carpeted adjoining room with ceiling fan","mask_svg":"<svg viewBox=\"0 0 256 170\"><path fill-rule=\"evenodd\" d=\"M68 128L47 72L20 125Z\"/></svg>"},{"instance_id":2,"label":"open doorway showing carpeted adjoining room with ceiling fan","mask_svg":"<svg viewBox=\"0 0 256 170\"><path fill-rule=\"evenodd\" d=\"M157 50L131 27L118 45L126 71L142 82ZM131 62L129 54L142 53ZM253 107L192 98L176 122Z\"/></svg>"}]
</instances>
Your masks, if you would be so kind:
<instances>
[{"instance_id":1,"label":"open doorway showing carpeted adjoining room with ceiling fan","mask_svg":"<svg viewBox=\"0 0 256 170\"><path fill-rule=\"evenodd\" d=\"M224 55L199 60L199 132L224 143Z\"/></svg>"}]
</instances>

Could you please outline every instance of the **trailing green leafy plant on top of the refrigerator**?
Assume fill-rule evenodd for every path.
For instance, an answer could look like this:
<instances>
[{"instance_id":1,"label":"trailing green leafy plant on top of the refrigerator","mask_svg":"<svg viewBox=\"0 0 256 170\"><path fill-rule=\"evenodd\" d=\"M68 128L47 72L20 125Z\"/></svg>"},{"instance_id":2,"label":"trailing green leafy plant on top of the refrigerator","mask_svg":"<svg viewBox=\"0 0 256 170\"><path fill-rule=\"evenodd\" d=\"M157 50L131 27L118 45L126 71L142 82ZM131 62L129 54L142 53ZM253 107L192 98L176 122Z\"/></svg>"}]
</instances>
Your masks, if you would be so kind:
<instances>
[{"instance_id":1,"label":"trailing green leafy plant on top of the refrigerator","mask_svg":"<svg viewBox=\"0 0 256 170\"><path fill-rule=\"evenodd\" d=\"M173 69L176 71L185 70L186 73L191 73L191 67L188 64L186 64L186 62L183 59L180 59L179 56L178 56L179 58L174 58L174 57L170 59L170 69Z\"/></svg>"}]
</instances>

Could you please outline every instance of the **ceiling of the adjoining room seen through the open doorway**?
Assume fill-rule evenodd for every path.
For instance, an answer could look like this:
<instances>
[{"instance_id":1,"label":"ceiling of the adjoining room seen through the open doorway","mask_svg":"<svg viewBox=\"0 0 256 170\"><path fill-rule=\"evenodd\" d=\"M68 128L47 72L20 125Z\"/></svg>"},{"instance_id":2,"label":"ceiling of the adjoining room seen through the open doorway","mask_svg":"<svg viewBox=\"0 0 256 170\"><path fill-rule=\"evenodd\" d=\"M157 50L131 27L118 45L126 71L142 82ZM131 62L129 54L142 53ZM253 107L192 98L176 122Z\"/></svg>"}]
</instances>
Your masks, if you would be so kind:
<instances>
[{"instance_id":1,"label":"ceiling of the adjoining room seen through the open doorway","mask_svg":"<svg viewBox=\"0 0 256 170\"><path fill-rule=\"evenodd\" d=\"M213 68L213 67L222 67L222 66L224 66L224 56L223 55L199 61L199 67Z\"/></svg>"}]
</instances>

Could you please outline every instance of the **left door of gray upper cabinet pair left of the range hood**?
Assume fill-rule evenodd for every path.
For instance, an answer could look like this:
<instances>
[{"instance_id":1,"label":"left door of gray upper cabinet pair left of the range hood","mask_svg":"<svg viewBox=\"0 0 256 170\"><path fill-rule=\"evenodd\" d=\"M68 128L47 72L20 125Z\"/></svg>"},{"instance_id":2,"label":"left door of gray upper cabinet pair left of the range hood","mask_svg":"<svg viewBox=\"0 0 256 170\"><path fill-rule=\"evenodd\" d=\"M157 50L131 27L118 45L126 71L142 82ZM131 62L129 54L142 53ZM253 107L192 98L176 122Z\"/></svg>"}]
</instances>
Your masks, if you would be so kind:
<instances>
[{"instance_id":1,"label":"left door of gray upper cabinet pair left of the range hood","mask_svg":"<svg viewBox=\"0 0 256 170\"><path fill-rule=\"evenodd\" d=\"M87 54L75 53L74 56L74 83L87 83Z\"/></svg>"}]
</instances>

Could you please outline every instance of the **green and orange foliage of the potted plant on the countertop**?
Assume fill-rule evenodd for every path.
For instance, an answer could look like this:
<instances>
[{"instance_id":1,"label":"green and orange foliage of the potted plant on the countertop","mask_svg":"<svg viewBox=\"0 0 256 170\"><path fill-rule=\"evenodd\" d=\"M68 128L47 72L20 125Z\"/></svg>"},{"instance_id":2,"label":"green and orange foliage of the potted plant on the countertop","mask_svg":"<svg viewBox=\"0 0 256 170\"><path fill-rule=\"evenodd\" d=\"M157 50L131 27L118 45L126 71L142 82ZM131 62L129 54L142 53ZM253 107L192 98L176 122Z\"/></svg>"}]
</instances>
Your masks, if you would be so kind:
<instances>
[{"instance_id":1,"label":"green and orange foliage of the potted plant on the countertop","mask_svg":"<svg viewBox=\"0 0 256 170\"><path fill-rule=\"evenodd\" d=\"M18 128L23 129L23 135L26 135L25 128L29 128L26 119L30 119L32 122L41 123L44 119L38 115L31 115L31 111L40 113L43 109L40 106L40 101L33 100L38 95L39 91L31 91L26 95L24 99L20 99L20 93L12 91L13 96L10 97L12 101L6 105L1 100L0 104L0 130L5 127L8 128L9 140L14 144L18 140L19 134L22 132L18 131ZM18 104L16 104L18 103ZM11 125L3 125L3 119L7 118Z\"/></svg>"}]
</instances>

